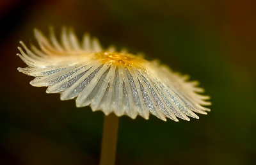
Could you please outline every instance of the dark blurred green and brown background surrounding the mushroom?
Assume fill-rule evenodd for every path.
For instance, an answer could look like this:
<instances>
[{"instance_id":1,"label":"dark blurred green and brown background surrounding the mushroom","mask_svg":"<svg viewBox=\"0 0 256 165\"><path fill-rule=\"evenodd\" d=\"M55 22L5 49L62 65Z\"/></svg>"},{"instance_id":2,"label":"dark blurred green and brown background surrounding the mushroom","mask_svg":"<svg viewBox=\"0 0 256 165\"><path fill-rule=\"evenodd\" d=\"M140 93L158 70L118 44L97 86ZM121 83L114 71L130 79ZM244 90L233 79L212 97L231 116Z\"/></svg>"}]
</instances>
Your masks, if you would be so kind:
<instances>
[{"instance_id":1,"label":"dark blurred green and brown background surrounding the mushroom","mask_svg":"<svg viewBox=\"0 0 256 165\"><path fill-rule=\"evenodd\" d=\"M120 118L116 164L256 164L256 2L253 0L0 1L0 164L98 164L102 112L29 85L15 54L33 28L71 26L158 58L200 81L200 120Z\"/></svg>"}]
</instances>

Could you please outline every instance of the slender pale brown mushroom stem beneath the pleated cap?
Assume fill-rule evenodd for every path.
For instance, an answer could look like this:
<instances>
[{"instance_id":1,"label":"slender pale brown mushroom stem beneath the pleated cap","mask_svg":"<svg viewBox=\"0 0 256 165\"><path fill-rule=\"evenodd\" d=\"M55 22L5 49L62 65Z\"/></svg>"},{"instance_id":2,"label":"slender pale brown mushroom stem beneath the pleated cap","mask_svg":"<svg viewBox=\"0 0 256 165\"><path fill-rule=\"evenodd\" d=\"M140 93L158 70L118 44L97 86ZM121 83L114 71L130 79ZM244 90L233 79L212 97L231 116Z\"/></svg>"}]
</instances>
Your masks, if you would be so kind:
<instances>
[{"instance_id":1,"label":"slender pale brown mushroom stem beneath the pleated cap","mask_svg":"<svg viewBox=\"0 0 256 165\"><path fill-rule=\"evenodd\" d=\"M115 164L118 119L114 113L104 117L100 165Z\"/></svg>"}]
</instances>

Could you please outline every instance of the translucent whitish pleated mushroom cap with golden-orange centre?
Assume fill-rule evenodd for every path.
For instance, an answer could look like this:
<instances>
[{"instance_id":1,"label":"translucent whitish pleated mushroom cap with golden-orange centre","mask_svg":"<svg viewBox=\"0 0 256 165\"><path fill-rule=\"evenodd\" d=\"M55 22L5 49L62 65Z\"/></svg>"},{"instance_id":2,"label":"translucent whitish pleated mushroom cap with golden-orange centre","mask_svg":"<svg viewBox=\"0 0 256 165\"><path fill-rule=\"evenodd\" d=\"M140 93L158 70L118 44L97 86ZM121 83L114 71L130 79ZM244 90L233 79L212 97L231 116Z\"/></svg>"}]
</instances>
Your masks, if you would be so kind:
<instances>
[{"instance_id":1,"label":"translucent whitish pleated mushroom cap with golden-orange centre","mask_svg":"<svg viewBox=\"0 0 256 165\"><path fill-rule=\"evenodd\" d=\"M139 114L148 119L149 114L166 121L166 117L178 122L178 118L198 118L193 113L207 114L210 109L202 106L208 96L199 95L198 82L188 82L188 75L172 72L157 61L147 61L141 56L117 52L115 47L104 50L97 38L84 35L80 42L72 29L62 29L58 42L50 28L47 39L35 29L40 49L31 50L20 42L17 54L27 65L19 72L35 77L32 86L47 86L47 93L60 93L61 100L76 98L76 106L91 106L106 115Z\"/></svg>"}]
</instances>

